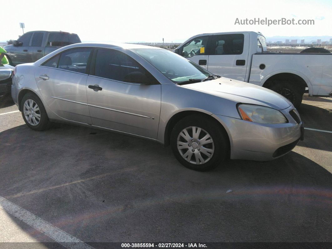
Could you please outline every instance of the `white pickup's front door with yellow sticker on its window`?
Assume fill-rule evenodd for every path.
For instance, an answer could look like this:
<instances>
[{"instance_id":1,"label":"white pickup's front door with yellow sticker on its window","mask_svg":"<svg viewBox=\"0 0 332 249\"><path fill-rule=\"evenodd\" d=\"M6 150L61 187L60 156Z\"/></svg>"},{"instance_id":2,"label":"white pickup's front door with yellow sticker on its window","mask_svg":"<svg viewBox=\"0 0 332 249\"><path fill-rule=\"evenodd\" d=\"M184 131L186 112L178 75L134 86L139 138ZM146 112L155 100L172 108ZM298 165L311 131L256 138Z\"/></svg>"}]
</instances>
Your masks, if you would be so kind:
<instances>
[{"instance_id":1,"label":"white pickup's front door with yellow sticker on its window","mask_svg":"<svg viewBox=\"0 0 332 249\"><path fill-rule=\"evenodd\" d=\"M208 55L206 46L209 36L196 37L179 48L179 55L207 69Z\"/></svg>"}]
</instances>

